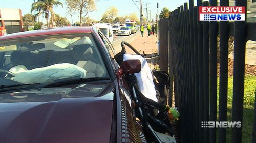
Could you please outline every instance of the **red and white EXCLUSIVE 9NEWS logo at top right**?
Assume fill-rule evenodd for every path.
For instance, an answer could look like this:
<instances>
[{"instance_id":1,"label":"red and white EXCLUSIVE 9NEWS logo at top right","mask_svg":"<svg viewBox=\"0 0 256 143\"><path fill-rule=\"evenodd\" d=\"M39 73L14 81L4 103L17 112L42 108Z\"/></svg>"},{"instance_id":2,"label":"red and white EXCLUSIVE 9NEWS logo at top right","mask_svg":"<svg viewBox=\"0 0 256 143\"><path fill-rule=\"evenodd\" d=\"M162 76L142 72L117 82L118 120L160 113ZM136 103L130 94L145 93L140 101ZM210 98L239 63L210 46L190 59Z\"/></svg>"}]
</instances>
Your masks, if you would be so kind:
<instances>
[{"instance_id":1,"label":"red and white EXCLUSIVE 9NEWS logo at top right","mask_svg":"<svg viewBox=\"0 0 256 143\"><path fill-rule=\"evenodd\" d=\"M200 21L244 21L245 7L199 7Z\"/></svg>"}]
</instances>

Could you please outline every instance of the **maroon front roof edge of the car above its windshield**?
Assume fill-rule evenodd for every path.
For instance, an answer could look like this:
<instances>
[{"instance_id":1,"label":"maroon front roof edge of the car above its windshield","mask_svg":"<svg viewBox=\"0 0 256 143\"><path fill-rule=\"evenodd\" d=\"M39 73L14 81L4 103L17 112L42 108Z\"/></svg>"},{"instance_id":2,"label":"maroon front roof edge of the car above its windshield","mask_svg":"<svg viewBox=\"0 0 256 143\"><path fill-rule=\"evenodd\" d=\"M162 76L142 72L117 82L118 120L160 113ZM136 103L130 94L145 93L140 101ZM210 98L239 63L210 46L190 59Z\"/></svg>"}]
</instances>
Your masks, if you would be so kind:
<instances>
[{"instance_id":1,"label":"maroon front roof edge of the car above its windshield","mask_svg":"<svg viewBox=\"0 0 256 143\"><path fill-rule=\"evenodd\" d=\"M0 40L30 37L30 36L40 36L40 35L52 35L52 34L90 33L92 31L93 31L92 26L59 27L59 28L50 28L50 29L44 29L44 30L35 30L35 31L26 31L26 32L17 32L13 34L7 34L5 36L0 36Z\"/></svg>"}]
</instances>

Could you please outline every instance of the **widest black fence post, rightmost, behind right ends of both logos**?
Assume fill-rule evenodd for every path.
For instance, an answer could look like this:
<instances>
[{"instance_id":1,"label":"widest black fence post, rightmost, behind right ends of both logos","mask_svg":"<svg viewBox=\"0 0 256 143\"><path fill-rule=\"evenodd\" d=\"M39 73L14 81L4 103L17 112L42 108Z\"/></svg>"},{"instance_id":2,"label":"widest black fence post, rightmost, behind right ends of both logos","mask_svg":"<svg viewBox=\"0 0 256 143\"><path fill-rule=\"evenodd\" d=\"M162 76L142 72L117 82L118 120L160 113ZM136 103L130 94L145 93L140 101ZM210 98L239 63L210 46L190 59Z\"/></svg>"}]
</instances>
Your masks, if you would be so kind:
<instances>
[{"instance_id":1,"label":"widest black fence post, rightmost, behind right ends of both logos","mask_svg":"<svg viewBox=\"0 0 256 143\"><path fill-rule=\"evenodd\" d=\"M232 121L243 121L245 45L247 36L247 1L237 0L236 6L245 7L245 21L234 22L234 76ZM255 120L255 119L254 119ZM242 124L243 127L243 124ZM232 129L232 142L242 142L242 127Z\"/></svg>"}]
</instances>

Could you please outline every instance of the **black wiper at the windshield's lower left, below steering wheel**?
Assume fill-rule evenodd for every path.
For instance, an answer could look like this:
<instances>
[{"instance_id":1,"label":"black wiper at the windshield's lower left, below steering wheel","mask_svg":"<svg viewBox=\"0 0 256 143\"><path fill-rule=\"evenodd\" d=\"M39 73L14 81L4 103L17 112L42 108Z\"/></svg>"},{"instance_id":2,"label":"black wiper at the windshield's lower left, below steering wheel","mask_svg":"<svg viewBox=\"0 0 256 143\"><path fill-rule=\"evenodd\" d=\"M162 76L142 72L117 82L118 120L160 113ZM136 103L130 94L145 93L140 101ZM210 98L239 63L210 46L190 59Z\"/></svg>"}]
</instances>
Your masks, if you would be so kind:
<instances>
[{"instance_id":1,"label":"black wiper at the windshield's lower left, below steering wheel","mask_svg":"<svg viewBox=\"0 0 256 143\"><path fill-rule=\"evenodd\" d=\"M31 84L15 84L15 85L1 85L0 92L9 90L24 90L37 88L41 83L31 83Z\"/></svg>"}]
</instances>

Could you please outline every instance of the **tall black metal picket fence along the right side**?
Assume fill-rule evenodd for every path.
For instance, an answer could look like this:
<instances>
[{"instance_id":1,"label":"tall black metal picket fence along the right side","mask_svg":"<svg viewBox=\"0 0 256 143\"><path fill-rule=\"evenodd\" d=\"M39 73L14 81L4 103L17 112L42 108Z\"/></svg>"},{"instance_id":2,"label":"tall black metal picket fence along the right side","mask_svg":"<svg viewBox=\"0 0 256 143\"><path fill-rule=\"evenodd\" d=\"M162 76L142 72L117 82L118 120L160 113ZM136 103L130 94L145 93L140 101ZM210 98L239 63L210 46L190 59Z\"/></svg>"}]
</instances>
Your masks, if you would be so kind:
<instances>
[{"instance_id":1,"label":"tall black metal picket fence along the right side","mask_svg":"<svg viewBox=\"0 0 256 143\"><path fill-rule=\"evenodd\" d=\"M217 6L217 0L197 1L197 6ZM228 0L220 0L228 6ZM247 6L237 0L236 6ZM245 14L246 15L246 14ZM174 79L175 104L181 112L180 142L226 142L226 128L203 128L203 121L227 121L228 39L235 37L232 121L243 121L245 46L256 41L256 23L199 21L193 0L160 19L159 35L168 36L170 75ZM161 31L168 21L168 32ZM163 29L163 28L162 28ZM220 35L219 108L217 109L217 36ZM161 38L160 37L160 38ZM161 40L161 39L160 39ZM160 42L159 48L166 46ZM161 59L160 52L160 59ZM256 56L256 55L255 55ZM161 68L161 67L160 67ZM170 90L172 93L172 90ZM170 96L172 97L172 96ZM217 120L218 111L218 120ZM256 115L254 110L254 116ZM255 119L254 121L255 125ZM243 127L243 122L242 122ZM255 126L252 137L255 139ZM218 140L217 140L218 136ZM232 128L232 142L242 142L242 128ZM252 139L252 142L255 140Z\"/></svg>"}]
</instances>

